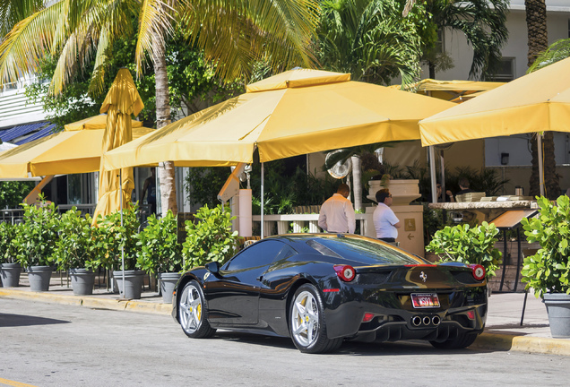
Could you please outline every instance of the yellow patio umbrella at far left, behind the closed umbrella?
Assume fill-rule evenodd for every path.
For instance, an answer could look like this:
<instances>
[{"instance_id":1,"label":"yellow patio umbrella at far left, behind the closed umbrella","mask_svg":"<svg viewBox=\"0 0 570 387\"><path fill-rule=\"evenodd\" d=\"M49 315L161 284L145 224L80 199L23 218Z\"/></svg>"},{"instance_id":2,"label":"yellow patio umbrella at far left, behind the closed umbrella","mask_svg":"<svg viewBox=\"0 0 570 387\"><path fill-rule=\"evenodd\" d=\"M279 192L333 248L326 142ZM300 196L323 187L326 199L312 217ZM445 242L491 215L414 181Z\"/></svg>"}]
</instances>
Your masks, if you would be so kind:
<instances>
[{"instance_id":1,"label":"yellow patio umbrella at far left, behind the closed umbrella","mask_svg":"<svg viewBox=\"0 0 570 387\"><path fill-rule=\"evenodd\" d=\"M99 171L107 115L88 118L102 125L65 125L65 131L0 152L0 178L66 175ZM86 121L86 120L83 120ZM133 138L152 132L133 121ZM82 129L81 129L82 128Z\"/></svg>"}]
</instances>

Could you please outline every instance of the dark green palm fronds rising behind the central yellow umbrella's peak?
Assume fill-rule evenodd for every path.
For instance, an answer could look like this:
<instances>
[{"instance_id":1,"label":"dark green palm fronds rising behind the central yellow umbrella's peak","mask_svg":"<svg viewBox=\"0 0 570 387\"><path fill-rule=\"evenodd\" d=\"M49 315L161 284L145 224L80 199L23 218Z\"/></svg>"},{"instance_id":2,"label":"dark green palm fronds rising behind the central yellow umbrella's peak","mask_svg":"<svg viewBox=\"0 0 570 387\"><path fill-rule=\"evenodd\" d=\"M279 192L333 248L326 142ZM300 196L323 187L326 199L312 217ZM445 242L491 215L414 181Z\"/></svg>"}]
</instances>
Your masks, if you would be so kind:
<instances>
[{"instance_id":1,"label":"dark green palm fronds rising behind the central yellow umbrella's peak","mask_svg":"<svg viewBox=\"0 0 570 387\"><path fill-rule=\"evenodd\" d=\"M319 62L351 73L354 81L390 84L419 78L416 24L403 18L397 0L330 0L322 4Z\"/></svg>"}]
</instances>

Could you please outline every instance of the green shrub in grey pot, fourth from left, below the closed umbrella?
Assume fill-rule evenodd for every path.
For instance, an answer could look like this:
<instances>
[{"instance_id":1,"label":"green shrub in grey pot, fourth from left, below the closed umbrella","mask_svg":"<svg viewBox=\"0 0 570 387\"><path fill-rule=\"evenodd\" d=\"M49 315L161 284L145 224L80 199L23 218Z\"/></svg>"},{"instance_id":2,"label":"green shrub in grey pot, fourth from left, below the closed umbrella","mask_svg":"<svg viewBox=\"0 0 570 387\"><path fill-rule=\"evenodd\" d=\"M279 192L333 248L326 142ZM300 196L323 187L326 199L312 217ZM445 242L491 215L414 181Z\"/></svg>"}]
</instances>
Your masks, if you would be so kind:
<instances>
[{"instance_id":1,"label":"green shrub in grey pot, fourth from left, below the closed umbrella","mask_svg":"<svg viewBox=\"0 0 570 387\"><path fill-rule=\"evenodd\" d=\"M121 212L108 214L105 218L99 216L98 227L101 233L101 247L106 252L104 266L113 270L113 278L117 280L118 291L123 298L141 298L144 271L137 265L137 238L140 223L137 218L138 206Z\"/></svg>"}]
</instances>

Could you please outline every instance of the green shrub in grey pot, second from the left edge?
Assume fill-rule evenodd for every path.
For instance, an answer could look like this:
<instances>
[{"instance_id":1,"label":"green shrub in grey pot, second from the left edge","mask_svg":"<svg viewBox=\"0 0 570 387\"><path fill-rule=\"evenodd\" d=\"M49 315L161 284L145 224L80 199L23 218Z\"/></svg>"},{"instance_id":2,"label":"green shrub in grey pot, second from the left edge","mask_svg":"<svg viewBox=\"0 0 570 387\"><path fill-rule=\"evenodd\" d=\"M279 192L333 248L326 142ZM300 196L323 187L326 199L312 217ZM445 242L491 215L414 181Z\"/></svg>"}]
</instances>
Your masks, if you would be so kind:
<instances>
[{"instance_id":1,"label":"green shrub in grey pot, second from the left edge","mask_svg":"<svg viewBox=\"0 0 570 387\"><path fill-rule=\"evenodd\" d=\"M28 271L30 289L47 291L53 271L59 214L52 202L22 205L23 222L16 228L13 239L16 259Z\"/></svg>"}]
</instances>

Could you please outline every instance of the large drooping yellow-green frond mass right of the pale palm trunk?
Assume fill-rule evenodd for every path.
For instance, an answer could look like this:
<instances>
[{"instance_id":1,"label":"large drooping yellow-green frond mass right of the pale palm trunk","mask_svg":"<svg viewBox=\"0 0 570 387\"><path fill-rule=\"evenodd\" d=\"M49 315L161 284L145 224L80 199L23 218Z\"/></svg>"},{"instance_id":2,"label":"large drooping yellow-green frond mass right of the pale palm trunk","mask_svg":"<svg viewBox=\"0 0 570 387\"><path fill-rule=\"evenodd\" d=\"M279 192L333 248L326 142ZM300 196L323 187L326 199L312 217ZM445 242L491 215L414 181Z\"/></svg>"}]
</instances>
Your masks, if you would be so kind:
<instances>
[{"instance_id":1,"label":"large drooping yellow-green frond mass right of the pale palm trunk","mask_svg":"<svg viewBox=\"0 0 570 387\"><path fill-rule=\"evenodd\" d=\"M274 71L315 65L315 0L195 0L185 11L181 22L188 38L219 64L226 80L248 77L251 65L260 59Z\"/></svg>"}]
</instances>

